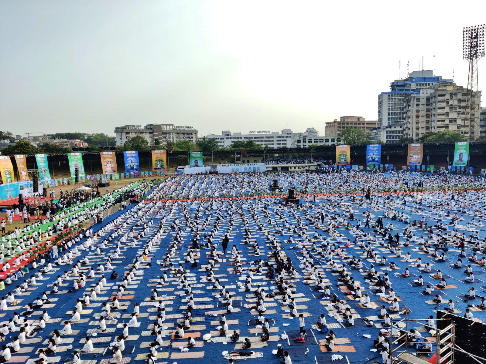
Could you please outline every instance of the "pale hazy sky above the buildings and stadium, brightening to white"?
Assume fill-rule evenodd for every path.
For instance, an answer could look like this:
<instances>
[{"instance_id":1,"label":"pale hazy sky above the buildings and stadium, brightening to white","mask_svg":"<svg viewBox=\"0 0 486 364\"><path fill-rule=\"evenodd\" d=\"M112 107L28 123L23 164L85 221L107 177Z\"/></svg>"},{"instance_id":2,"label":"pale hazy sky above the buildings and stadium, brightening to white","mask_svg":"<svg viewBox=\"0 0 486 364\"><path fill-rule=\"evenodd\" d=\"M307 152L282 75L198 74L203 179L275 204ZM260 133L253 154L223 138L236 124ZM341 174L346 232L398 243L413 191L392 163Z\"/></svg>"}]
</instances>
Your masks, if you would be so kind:
<instances>
[{"instance_id":1,"label":"pale hazy sky above the buildings and stadium, brightening to white","mask_svg":"<svg viewBox=\"0 0 486 364\"><path fill-rule=\"evenodd\" d=\"M466 86L463 27L485 23L486 10L468 4L0 1L0 130L114 135L171 123L199 136L324 135L340 116L377 120L378 95L422 57ZM478 66L485 89L485 59Z\"/></svg>"}]
</instances>

